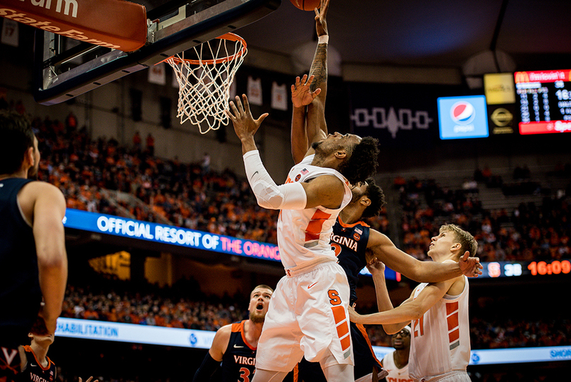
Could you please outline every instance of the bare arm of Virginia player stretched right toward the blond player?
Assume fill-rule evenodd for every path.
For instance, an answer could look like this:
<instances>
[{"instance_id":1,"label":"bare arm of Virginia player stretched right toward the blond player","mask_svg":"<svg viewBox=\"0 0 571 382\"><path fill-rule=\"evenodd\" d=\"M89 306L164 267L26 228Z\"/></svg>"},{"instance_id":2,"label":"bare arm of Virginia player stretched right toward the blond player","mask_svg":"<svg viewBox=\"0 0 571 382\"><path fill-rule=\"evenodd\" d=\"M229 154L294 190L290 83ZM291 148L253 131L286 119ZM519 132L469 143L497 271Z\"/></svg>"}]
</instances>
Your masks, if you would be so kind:
<instances>
[{"instance_id":1,"label":"bare arm of Virginia player stretched right toward the blond player","mask_svg":"<svg viewBox=\"0 0 571 382\"><path fill-rule=\"evenodd\" d=\"M460 258L460 263L419 261L398 249L391 239L374 229L369 233L367 251L370 257L376 256L388 268L417 282L441 282L462 274L468 277L481 275L479 258L468 257L469 252Z\"/></svg>"}]
</instances>

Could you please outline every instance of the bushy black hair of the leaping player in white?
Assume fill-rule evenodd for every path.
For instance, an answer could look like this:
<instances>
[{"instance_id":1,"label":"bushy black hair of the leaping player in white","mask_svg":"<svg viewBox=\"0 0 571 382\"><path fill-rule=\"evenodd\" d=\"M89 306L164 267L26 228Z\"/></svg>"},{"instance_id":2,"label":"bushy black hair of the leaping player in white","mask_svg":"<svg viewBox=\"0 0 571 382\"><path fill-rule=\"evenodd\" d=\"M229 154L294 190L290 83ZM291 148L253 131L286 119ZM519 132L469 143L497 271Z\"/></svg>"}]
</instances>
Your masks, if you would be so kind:
<instances>
[{"instance_id":1,"label":"bushy black hair of the leaping player in white","mask_svg":"<svg viewBox=\"0 0 571 382\"><path fill-rule=\"evenodd\" d=\"M379 159L378 144L378 140L367 136L350 150L349 159L345 160L338 169L350 184L362 183L376 173Z\"/></svg>"}]
</instances>

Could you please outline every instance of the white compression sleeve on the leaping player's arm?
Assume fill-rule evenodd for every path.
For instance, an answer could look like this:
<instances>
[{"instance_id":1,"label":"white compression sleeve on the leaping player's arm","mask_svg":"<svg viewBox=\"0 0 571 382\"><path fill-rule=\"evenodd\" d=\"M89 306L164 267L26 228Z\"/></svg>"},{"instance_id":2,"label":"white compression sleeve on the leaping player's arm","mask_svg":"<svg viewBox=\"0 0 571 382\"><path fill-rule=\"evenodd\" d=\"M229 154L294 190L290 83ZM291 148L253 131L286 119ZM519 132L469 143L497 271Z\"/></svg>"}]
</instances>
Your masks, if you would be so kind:
<instances>
[{"instance_id":1,"label":"white compression sleeve on the leaping player's arm","mask_svg":"<svg viewBox=\"0 0 571 382\"><path fill-rule=\"evenodd\" d=\"M300 183L276 185L266 171L258 150L244 154L244 167L258 205L271 210L303 210L307 203Z\"/></svg>"}]
</instances>

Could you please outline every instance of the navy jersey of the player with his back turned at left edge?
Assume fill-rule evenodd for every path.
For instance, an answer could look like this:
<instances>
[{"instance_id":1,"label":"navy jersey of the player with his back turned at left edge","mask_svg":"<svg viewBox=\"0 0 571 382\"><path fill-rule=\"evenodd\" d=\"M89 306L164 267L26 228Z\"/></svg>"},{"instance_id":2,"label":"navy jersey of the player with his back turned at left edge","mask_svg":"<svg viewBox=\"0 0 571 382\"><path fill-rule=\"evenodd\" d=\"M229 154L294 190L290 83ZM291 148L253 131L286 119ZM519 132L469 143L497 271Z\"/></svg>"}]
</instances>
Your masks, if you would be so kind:
<instances>
[{"instance_id":1,"label":"navy jersey of the player with his back turned at left edge","mask_svg":"<svg viewBox=\"0 0 571 382\"><path fill-rule=\"evenodd\" d=\"M0 180L0 338L16 346L27 339L42 301L34 234L18 205L18 192L30 181Z\"/></svg>"}]
</instances>

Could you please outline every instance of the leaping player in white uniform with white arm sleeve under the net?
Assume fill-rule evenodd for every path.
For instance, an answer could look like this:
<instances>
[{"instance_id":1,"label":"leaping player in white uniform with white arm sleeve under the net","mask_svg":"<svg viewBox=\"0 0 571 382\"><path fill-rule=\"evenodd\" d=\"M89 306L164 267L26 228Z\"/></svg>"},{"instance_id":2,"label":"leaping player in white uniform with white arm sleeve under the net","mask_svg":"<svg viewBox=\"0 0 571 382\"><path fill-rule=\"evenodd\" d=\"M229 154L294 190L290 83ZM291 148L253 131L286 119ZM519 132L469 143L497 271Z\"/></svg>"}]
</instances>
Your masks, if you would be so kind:
<instances>
[{"instance_id":1,"label":"leaping player in white uniform with white arm sleeve under the net","mask_svg":"<svg viewBox=\"0 0 571 382\"><path fill-rule=\"evenodd\" d=\"M321 364L327 381L352 382L350 290L329 239L340 210L351 201L349 184L376 171L376 140L340 133L324 136L292 167L285 184L277 186L254 142L268 114L254 120L247 97L242 98L244 105L236 97L226 114L242 143L247 179L258 204L281 210L278 246L286 271L264 321L253 381L282 381L305 356Z\"/></svg>"}]
</instances>

